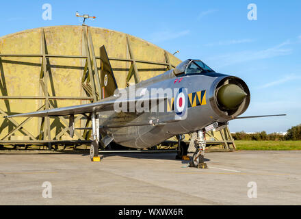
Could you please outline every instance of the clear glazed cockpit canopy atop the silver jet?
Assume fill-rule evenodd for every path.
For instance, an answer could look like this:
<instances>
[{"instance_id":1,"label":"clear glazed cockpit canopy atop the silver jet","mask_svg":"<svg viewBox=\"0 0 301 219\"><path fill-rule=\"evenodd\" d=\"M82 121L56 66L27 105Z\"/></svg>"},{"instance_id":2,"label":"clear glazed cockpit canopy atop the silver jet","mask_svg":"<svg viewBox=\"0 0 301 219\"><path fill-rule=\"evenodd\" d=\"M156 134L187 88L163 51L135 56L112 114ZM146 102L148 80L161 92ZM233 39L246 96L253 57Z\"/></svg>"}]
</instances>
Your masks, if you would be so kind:
<instances>
[{"instance_id":1,"label":"clear glazed cockpit canopy atop the silver jet","mask_svg":"<svg viewBox=\"0 0 301 219\"><path fill-rule=\"evenodd\" d=\"M204 62L200 60L186 60L181 62L176 68L174 68L174 75L194 75L194 74L206 74L215 73L214 70L209 68Z\"/></svg>"}]
</instances>

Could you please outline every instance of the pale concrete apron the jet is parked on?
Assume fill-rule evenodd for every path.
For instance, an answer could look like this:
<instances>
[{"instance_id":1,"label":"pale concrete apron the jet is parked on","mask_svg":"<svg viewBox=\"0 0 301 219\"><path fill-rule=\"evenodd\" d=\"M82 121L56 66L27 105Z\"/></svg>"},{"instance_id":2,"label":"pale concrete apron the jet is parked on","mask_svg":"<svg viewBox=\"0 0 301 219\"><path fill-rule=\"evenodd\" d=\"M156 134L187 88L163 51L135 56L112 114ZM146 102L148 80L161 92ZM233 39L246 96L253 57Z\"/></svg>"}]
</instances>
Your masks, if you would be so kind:
<instances>
[{"instance_id":1,"label":"pale concrete apron the jet is parked on","mask_svg":"<svg viewBox=\"0 0 301 219\"><path fill-rule=\"evenodd\" d=\"M207 153L207 169L174 156L1 154L0 205L301 205L301 151Z\"/></svg>"}]
</instances>

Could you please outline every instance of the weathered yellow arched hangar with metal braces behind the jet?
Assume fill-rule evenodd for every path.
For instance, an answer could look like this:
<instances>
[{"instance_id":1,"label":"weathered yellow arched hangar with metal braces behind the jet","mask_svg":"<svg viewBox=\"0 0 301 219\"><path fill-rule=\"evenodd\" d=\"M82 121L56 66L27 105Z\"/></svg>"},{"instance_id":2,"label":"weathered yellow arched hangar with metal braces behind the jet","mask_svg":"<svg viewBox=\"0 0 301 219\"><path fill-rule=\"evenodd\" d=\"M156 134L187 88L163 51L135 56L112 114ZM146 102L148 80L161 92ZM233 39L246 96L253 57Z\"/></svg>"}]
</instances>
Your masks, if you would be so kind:
<instances>
[{"instance_id":1,"label":"weathered yellow arched hangar with metal braces behind the jet","mask_svg":"<svg viewBox=\"0 0 301 219\"><path fill-rule=\"evenodd\" d=\"M118 88L159 75L181 63L150 42L99 27L56 26L29 29L0 38L0 144L48 145L90 143L90 115L68 119L3 116L92 103L101 99L105 45ZM209 143L235 148L228 127L208 133Z\"/></svg>"}]
</instances>

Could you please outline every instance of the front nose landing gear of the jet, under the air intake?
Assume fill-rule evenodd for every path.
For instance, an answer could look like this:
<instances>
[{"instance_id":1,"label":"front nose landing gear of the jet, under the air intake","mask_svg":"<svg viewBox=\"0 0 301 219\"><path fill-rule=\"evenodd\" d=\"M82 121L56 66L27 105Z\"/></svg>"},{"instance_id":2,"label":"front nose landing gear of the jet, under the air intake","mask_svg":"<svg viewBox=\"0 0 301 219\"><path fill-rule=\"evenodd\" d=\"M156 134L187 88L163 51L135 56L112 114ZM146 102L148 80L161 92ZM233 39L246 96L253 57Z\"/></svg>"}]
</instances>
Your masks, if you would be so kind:
<instances>
[{"instance_id":1,"label":"front nose landing gear of the jet, under the air intake","mask_svg":"<svg viewBox=\"0 0 301 219\"><path fill-rule=\"evenodd\" d=\"M197 138L194 144L198 146L198 149L192 156L189 166L205 169L207 168L207 164L204 162L205 147L206 147L205 131L202 130L198 131Z\"/></svg>"}]
</instances>

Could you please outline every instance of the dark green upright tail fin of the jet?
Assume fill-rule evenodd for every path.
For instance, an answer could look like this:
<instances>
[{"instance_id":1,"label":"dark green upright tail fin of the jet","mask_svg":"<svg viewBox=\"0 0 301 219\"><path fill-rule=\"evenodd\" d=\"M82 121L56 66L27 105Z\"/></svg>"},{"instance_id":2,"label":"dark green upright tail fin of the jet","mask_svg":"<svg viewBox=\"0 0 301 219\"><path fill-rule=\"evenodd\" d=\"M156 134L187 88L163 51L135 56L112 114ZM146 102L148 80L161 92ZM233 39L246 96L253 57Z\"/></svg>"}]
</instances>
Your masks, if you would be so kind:
<instances>
[{"instance_id":1,"label":"dark green upright tail fin of the jet","mask_svg":"<svg viewBox=\"0 0 301 219\"><path fill-rule=\"evenodd\" d=\"M105 46L100 49L101 57L101 98L105 99L108 96L113 96L114 90L118 88L114 73L107 57Z\"/></svg>"}]
</instances>

